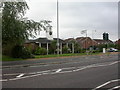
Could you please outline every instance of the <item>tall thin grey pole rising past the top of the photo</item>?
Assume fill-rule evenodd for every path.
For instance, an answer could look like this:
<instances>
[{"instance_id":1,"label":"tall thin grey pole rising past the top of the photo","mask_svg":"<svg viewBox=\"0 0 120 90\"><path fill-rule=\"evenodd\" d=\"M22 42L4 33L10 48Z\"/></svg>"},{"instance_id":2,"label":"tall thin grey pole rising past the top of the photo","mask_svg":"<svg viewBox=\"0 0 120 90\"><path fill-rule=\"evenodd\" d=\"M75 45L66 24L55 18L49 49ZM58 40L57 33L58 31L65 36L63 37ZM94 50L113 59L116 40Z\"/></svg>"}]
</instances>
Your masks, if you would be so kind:
<instances>
[{"instance_id":1,"label":"tall thin grey pole rising past the top of the photo","mask_svg":"<svg viewBox=\"0 0 120 90\"><path fill-rule=\"evenodd\" d=\"M57 0L57 55L59 56L59 4Z\"/></svg>"}]
</instances>

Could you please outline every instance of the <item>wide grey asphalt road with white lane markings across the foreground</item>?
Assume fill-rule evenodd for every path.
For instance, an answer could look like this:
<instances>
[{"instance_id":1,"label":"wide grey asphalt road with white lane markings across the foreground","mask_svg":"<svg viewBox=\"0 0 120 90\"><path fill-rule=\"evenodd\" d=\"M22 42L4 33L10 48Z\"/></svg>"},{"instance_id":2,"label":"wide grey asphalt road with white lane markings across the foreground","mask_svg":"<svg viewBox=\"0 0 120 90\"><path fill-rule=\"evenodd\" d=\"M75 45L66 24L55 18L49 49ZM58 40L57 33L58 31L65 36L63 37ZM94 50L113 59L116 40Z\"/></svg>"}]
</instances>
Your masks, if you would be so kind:
<instances>
[{"instance_id":1,"label":"wide grey asphalt road with white lane markings across the foreground","mask_svg":"<svg viewBox=\"0 0 120 90\"><path fill-rule=\"evenodd\" d=\"M118 54L23 62L2 69L3 88L120 88Z\"/></svg>"}]
</instances>

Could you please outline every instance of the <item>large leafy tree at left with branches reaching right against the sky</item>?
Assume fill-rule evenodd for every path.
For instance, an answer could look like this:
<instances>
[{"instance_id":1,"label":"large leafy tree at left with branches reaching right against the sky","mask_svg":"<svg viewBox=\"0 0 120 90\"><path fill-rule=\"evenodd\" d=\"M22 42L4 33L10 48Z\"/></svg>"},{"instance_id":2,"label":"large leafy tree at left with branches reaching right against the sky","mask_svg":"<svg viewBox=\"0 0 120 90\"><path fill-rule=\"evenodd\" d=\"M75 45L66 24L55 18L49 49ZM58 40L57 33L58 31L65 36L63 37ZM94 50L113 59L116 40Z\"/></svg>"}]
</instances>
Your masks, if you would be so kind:
<instances>
[{"instance_id":1,"label":"large leafy tree at left with branches reaching right against the sky","mask_svg":"<svg viewBox=\"0 0 120 90\"><path fill-rule=\"evenodd\" d=\"M10 55L15 45L22 45L28 37L35 37L46 30L51 21L35 22L24 17L29 9L26 2L3 2L2 3L2 49L3 53Z\"/></svg>"}]
</instances>

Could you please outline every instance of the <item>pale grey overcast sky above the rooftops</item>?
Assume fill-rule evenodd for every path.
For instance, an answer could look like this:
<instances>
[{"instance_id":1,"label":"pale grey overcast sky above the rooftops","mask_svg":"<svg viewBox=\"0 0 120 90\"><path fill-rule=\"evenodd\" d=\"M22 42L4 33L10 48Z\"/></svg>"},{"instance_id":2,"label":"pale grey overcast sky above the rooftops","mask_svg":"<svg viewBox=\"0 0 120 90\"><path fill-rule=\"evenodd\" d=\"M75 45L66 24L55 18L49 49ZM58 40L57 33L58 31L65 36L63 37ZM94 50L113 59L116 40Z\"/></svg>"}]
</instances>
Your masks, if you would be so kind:
<instances>
[{"instance_id":1,"label":"pale grey overcast sky above the rooftops","mask_svg":"<svg viewBox=\"0 0 120 90\"><path fill-rule=\"evenodd\" d=\"M42 1L42 2L41 2ZM57 37L57 6L43 0L28 0L29 10L26 17L35 21L51 20L53 37ZM117 2L63 2L59 1L59 34L61 39L85 36L102 39L103 32L108 32L111 40L118 39L118 3ZM96 32L94 32L96 30ZM44 31L37 37L45 37Z\"/></svg>"}]
</instances>

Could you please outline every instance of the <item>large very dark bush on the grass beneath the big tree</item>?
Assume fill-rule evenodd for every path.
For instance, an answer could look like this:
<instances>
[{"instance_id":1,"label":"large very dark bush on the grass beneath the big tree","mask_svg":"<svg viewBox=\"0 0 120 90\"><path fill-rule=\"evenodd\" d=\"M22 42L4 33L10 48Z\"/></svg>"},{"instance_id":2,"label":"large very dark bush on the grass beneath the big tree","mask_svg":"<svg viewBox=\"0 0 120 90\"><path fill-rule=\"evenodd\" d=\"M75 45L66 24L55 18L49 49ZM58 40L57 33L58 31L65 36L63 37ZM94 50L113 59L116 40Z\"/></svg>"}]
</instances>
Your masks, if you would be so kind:
<instances>
[{"instance_id":1,"label":"large very dark bush on the grass beneath the big tree","mask_svg":"<svg viewBox=\"0 0 120 90\"><path fill-rule=\"evenodd\" d=\"M30 51L24 46L16 45L12 49L12 57L13 58L33 58L34 56L30 53Z\"/></svg>"}]
</instances>

